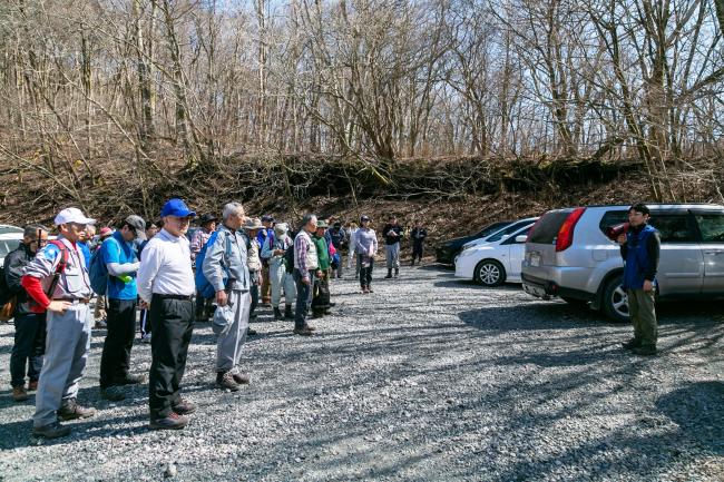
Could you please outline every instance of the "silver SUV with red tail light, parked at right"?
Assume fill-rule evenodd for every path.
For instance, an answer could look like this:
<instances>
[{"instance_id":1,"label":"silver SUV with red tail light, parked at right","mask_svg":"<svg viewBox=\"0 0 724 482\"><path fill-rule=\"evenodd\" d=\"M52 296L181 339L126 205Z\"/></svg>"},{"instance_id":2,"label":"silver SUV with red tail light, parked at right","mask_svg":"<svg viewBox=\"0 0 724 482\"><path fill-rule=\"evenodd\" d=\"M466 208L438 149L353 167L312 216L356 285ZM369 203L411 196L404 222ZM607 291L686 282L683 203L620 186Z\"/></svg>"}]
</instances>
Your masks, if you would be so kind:
<instances>
[{"instance_id":1,"label":"silver SUV with red tail light, parked at right","mask_svg":"<svg viewBox=\"0 0 724 482\"><path fill-rule=\"evenodd\" d=\"M622 289L624 263L606 228L626 223L629 206L549 210L531 228L522 262L522 287L537 297L590 303L616 321L628 319ZM648 205L661 232L658 298L724 296L724 206Z\"/></svg>"}]
</instances>

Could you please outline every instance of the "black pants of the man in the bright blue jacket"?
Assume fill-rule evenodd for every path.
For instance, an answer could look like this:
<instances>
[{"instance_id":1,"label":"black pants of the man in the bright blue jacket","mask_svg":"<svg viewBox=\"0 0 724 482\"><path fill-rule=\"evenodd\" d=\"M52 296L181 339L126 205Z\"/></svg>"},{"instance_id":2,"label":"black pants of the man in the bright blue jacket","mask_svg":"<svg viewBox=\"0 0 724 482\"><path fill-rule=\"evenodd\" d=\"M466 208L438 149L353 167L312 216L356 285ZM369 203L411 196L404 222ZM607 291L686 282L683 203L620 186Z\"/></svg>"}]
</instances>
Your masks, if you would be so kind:
<instances>
[{"instance_id":1,"label":"black pants of the man in the bright blue jacket","mask_svg":"<svg viewBox=\"0 0 724 482\"><path fill-rule=\"evenodd\" d=\"M136 299L108 299L108 333L100 355L100 387L107 388L128 375L136 334Z\"/></svg>"}]
</instances>

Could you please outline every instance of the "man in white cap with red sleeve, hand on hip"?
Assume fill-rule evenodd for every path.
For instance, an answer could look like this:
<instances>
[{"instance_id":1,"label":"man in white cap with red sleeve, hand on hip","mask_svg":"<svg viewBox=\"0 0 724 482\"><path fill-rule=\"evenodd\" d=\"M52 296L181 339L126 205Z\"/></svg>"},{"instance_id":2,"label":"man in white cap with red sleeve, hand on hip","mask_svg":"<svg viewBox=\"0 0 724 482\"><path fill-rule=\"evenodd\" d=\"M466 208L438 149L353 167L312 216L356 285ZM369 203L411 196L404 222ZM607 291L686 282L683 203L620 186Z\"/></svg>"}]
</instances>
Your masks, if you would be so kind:
<instances>
[{"instance_id":1,"label":"man in white cap with red sleeve, hand on hip","mask_svg":"<svg viewBox=\"0 0 724 482\"><path fill-rule=\"evenodd\" d=\"M46 354L38 381L32 433L55 439L70 433L59 419L96 414L76 401L90 350L88 301L92 294L86 259L78 247L86 226L96 220L71 207L56 216L58 243L48 243L26 266L21 285L35 301L33 313L47 312Z\"/></svg>"}]
</instances>

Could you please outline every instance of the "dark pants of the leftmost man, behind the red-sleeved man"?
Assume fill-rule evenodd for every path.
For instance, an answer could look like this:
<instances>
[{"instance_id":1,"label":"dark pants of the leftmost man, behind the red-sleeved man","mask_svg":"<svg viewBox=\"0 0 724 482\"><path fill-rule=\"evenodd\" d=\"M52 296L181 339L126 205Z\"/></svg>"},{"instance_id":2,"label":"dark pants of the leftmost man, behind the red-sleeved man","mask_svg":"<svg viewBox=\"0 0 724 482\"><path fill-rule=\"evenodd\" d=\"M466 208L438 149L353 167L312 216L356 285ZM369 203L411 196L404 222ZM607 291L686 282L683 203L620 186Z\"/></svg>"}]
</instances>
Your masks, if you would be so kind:
<instances>
[{"instance_id":1,"label":"dark pants of the leftmost man, behind the red-sleeved man","mask_svg":"<svg viewBox=\"0 0 724 482\"><path fill-rule=\"evenodd\" d=\"M42 368L42 354L46 351L46 314L29 313L14 317L16 336L10 354L10 384L26 384L28 378L37 382Z\"/></svg>"}]
</instances>

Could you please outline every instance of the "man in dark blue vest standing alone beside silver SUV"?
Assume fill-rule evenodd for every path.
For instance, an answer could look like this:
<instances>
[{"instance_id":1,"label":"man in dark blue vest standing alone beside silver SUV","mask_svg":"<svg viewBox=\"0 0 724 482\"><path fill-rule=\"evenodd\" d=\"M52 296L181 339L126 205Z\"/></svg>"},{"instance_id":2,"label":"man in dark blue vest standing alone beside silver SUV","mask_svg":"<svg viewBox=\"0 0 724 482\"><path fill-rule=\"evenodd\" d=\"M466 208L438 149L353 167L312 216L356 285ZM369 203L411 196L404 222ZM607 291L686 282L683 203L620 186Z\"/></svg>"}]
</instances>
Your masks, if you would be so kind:
<instances>
[{"instance_id":1,"label":"man in dark blue vest standing alone beside silver SUV","mask_svg":"<svg viewBox=\"0 0 724 482\"><path fill-rule=\"evenodd\" d=\"M625 350L637 355L655 355L658 327L656 324L656 270L661 236L649 226L649 210L643 204L628 209L628 233L618 236L624 258L623 287L628 296L628 313L634 325L634 337L624 343Z\"/></svg>"}]
</instances>

